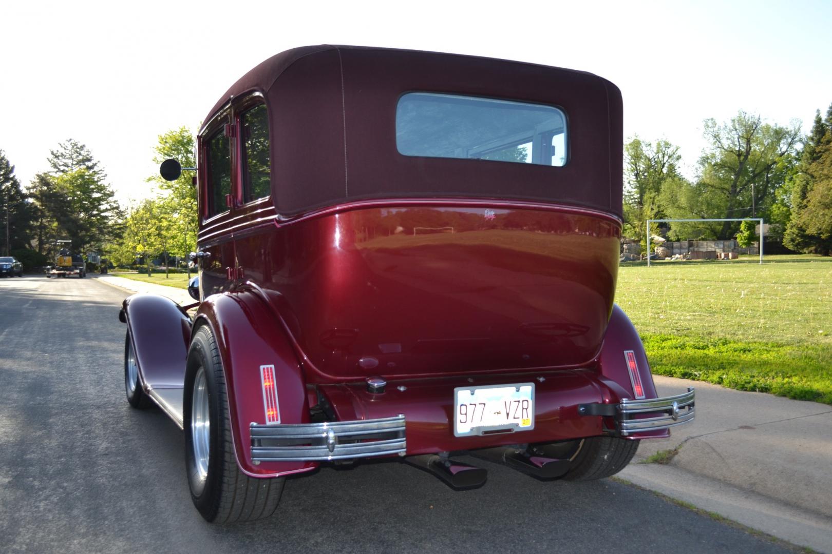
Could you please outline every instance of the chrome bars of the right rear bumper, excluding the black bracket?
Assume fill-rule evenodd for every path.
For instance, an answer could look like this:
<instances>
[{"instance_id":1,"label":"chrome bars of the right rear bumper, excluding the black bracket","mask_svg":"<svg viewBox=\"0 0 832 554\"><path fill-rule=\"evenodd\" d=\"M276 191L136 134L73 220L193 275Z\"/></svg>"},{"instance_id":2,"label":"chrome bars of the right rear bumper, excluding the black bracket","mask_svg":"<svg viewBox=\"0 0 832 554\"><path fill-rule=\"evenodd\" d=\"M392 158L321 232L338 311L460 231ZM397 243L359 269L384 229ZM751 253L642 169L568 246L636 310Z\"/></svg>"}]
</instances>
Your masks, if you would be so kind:
<instances>
[{"instance_id":1,"label":"chrome bars of the right rear bumper, excluding the black bracket","mask_svg":"<svg viewBox=\"0 0 832 554\"><path fill-rule=\"evenodd\" d=\"M621 434L627 436L640 431L657 431L670 429L676 425L686 424L693 420L696 412L696 392L693 387L688 387L686 393L663 398L647 400L622 400L618 404L617 424ZM681 410L686 411L682 412ZM658 417L630 419L633 414L645 414L647 412L664 412L665 415Z\"/></svg>"}]
</instances>

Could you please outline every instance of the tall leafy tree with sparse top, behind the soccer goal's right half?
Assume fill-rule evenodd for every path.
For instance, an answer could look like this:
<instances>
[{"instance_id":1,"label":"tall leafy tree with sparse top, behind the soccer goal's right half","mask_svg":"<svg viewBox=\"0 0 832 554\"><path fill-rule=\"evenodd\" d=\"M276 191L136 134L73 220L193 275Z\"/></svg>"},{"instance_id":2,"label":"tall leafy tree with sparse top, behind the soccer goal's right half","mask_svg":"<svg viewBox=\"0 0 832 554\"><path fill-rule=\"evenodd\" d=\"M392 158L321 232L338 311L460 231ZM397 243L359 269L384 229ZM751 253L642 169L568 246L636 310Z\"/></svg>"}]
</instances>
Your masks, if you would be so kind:
<instances>
[{"instance_id":1,"label":"tall leafy tree with sparse top, behind the soccer goal's right half","mask_svg":"<svg viewBox=\"0 0 832 554\"><path fill-rule=\"evenodd\" d=\"M722 125L705 120L705 136L711 145L700 159L699 185L715 210L707 215L765 218L796 163L798 123L770 125L740 110ZM737 229L736 222L721 223L716 238L731 238Z\"/></svg>"}]
</instances>

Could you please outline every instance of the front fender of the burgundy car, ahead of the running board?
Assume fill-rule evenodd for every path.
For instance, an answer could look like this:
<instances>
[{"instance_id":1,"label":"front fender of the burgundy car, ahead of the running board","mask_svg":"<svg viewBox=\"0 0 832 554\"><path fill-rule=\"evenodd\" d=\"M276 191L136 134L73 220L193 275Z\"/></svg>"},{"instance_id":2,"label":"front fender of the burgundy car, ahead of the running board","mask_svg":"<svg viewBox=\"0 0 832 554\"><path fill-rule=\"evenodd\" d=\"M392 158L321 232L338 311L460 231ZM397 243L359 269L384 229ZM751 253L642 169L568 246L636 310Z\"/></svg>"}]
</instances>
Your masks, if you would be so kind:
<instances>
[{"instance_id":1,"label":"front fender of the burgundy car, ahead of the running board","mask_svg":"<svg viewBox=\"0 0 832 554\"><path fill-rule=\"evenodd\" d=\"M121 306L119 320L130 330L144 390L181 388L191 320L176 302L157 294L134 294Z\"/></svg>"}]
</instances>

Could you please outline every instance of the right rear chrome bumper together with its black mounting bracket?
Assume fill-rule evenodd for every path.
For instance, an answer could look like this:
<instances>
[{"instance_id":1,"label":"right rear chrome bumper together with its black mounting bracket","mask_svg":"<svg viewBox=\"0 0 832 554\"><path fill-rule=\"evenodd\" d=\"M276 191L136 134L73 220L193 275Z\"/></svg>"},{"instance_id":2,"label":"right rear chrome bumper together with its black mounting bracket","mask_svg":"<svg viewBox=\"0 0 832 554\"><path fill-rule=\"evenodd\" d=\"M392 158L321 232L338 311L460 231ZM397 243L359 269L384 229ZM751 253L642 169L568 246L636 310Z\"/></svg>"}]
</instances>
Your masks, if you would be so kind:
<instances>
[{"instance_id":1,"label":"right rear chrome bumper together with its black mounting bracket","mask_svg":"<svg viewBox=\"0 0 832 554\"><path fill-rule=\"evenodd\" d=\"M694 418L695 392L688 387L686 393L647 400L622 400L620 404L580 404L578 413L601 415L616 421L617 431L623 436L643 431L670 429L692 421ZM684 411L682 411L684 410ZM661 414L639 417L640 414Z\"/></svg>"}]
</instances>

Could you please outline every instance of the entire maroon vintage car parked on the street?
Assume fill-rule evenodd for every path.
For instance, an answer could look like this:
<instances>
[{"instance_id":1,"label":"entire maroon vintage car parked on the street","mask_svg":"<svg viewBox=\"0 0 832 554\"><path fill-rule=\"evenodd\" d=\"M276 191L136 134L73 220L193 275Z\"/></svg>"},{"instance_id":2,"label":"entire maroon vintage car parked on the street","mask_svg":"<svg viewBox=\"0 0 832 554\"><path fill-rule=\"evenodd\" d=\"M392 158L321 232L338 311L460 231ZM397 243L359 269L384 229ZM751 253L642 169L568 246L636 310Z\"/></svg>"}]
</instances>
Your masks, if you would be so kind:
<instances>
[{"instance_id":1,"label":"entire maroon vintage car parked on the street","mask_svg":"<svg viewBox=\"0 0 832 554\"><path fill-rule=\"evenodd\" d=\"M269 516L286 475L371 457L454 488L486 480L460 453L603 478L693 419L613 304L611 82L303 47L237 81L197 143L196 316L138 294L120 319L127 400L185 430L207 520Z\"/></svg>"}]
</instances>

